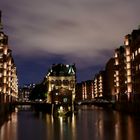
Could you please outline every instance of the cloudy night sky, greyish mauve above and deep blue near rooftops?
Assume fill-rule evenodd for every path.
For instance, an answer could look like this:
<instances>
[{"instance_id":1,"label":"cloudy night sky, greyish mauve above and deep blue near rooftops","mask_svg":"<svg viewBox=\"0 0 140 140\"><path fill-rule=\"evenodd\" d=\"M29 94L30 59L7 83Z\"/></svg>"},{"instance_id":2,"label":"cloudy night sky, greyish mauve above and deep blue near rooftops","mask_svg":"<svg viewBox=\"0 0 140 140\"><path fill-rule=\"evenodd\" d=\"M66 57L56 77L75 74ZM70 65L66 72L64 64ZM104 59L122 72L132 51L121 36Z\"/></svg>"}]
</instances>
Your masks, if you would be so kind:
<instances>
[{"instance_id":1,"label":"cloudy night sky, greyish mauve above and deep blue near rooftops","mask_svg":"<svg viewBox=\"0 0 140 140\"><path fill-rule=\"evenodd\" d=\"M0 0L19 84L43 80L54 63L92 79L140 24L140 0Z\"/></svg>"}]
</instances>

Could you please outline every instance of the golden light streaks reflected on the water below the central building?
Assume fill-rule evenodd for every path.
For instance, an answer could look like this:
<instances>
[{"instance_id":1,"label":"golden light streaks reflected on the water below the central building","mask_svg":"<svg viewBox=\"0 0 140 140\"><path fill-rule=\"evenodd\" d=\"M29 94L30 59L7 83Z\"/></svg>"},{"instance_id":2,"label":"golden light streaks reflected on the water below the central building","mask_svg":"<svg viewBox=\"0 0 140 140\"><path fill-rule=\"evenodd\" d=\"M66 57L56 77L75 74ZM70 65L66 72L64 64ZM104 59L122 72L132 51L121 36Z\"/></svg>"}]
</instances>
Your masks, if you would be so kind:
<instances>
[{"instance_id":1,"label":"golden light streaks reflected on the water below the central building","mask_svg":"<svg viewBox=\"0 0 140 140\"><path fill-rule=\"evenodd\" d=\"M72 117L53 117L49 114L38 113L46 123L46 139L76 140L75 115Z\"/></svg>"}]
</instances>

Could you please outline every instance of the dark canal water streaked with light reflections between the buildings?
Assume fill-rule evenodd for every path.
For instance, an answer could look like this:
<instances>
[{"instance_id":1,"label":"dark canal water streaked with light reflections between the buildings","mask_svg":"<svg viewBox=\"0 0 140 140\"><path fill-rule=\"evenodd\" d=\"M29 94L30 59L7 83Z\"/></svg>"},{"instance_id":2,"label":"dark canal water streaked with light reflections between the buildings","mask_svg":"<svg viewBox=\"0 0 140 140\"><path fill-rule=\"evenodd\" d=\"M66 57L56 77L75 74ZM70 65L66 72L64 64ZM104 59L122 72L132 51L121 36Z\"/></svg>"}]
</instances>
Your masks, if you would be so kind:
<instances>
[{"instance_id":1,"label":"dark canal water streaked with light reflections between the buildings","mask_svg":"<svg viewBox=\"0 0 140 140\"><path fill-rule=\"evenodd\" d=\"M0 127L0 140L139 140L140 117L81 106L72 117L16 109Z\"/></svg>"}]
</instances>

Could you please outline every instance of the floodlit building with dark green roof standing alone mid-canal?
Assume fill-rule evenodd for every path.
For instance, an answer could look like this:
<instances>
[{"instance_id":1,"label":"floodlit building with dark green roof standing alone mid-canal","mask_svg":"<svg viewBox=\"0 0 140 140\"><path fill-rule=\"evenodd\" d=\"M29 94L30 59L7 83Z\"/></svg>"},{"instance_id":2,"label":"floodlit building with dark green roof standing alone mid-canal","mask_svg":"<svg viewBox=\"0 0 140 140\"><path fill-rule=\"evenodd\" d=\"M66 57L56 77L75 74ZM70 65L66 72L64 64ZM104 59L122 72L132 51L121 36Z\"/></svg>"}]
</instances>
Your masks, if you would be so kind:
<instances>
[{"instance_id":1,"label":"floodlit building with dark green roof standing alone mid-canal","mask_svg":"<svg viewBox=\"0 0 140 140\"><path fill-rule=\"evenodd\" d=\"M76 67L75 65L53 64L45 82L48 87L47 102L55 105L73 105L75 101ZM59 106L59 107L60 107ZM60 107L62 110L62 107Z\"/></svg>"}]
</instances>

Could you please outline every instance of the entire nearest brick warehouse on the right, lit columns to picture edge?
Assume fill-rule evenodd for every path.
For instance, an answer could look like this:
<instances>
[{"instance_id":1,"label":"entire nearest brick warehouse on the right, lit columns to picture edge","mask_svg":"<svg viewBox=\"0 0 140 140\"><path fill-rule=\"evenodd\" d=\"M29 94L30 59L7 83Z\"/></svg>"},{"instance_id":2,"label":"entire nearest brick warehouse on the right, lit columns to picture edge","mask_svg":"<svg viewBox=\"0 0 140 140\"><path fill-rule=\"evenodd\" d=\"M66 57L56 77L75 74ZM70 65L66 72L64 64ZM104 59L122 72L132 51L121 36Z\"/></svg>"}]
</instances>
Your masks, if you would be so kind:
<instances>
[{"instance_id":1,"label":"entire nearest brick warehouse on the right, lit columns to picture edge","mask_svg":"<svg viewBox=\"0 0 140 140\"><path fill-rule=\"evenodd\" d=\"M115 94L119 101L140 100L140 29L125 36L115 50Z\"/></svg>"}]
</instances>

